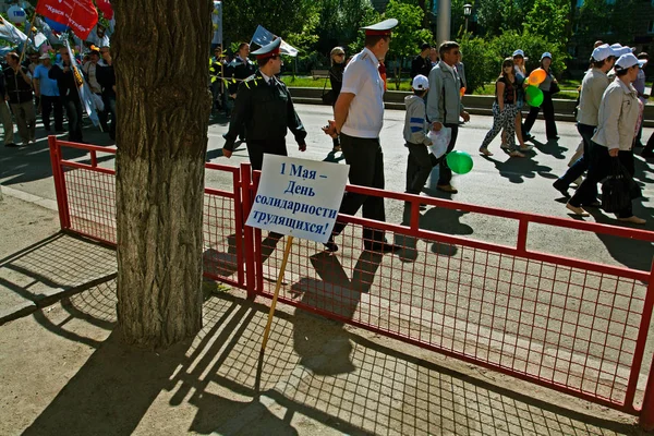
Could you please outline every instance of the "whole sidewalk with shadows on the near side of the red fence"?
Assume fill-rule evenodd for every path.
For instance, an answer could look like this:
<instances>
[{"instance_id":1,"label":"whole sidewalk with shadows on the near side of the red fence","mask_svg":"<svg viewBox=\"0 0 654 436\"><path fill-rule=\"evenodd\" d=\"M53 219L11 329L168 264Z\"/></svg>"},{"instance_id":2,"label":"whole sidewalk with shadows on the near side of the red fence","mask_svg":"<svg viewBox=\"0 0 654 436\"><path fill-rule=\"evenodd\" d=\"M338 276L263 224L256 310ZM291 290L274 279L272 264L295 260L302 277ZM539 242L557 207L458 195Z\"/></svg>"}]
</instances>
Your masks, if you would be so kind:
<instances>
[{"instance_id":1,"label":"whole sidewalk with shadows on the near side of the red fence","mask_svg":"<svg viewBox=\"0 0 654 436\"><path fill-rule=\"evenodd\" d=\"M0 304L38 307L0 326L2 435L639 434L631 416L284 305L262 362L268 301L214 282L193 341L130 349L113 253L4 194ZM39 300L53 289L70 292Z\"/></svg>"}]
</instances>

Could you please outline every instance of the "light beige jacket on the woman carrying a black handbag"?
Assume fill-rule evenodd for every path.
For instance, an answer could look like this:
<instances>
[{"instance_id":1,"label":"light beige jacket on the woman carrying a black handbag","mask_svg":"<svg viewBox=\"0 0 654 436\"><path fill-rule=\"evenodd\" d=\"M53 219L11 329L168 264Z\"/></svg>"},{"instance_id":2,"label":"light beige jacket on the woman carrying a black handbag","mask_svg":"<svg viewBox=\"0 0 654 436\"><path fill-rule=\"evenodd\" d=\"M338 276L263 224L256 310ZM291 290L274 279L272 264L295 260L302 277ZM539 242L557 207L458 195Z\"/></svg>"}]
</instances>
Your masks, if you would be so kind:
<instances>
[{"instance_id":1,"label":"light beige jacket on the woman carrying a black handbag","mask_svg":"<svg viewBox=\"0 0 654 436\"><path fill-rule=\"evenodd\" d=\"M616 78L604 92L593 142L608 149L630 150L639 114L638 92Z\"/></svg>"}]
</instances>

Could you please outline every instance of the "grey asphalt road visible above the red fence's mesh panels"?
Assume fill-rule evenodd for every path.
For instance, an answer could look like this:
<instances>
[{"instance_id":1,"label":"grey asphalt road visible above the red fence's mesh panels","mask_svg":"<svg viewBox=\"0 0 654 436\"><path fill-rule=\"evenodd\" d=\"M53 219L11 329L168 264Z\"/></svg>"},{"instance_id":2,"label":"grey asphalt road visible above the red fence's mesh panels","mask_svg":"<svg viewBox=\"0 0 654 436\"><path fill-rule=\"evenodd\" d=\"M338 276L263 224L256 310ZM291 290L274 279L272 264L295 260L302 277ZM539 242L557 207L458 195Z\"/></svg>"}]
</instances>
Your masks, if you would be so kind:
<instances>
[{"instance_id":1,"label":"grey asphalt road visible above the red fence's mesh panels","mask_svg":"<svg viewBox=\"0 0 654 436\"><path fill-rule=\"evenodd\" d=\"M331 160L344 162L340 154L331 152L331 140L326 136L320 126L330 118L331 108L325 106L298 105L298 112L308 131L307 150L300 153L289 134L288 148L290 156L315 160ZM382 146L386 173L386 189L403 192L405 185L407 149L403 146L404 111L387 110L385 113L384 130L382 132ZM461 203L492 206L501 209L529 211L555 217L570 218L565 207L565 201L552 186L557 175L567 169L568 160L580 136L573 123L558 122L560 140L556 143L545 142L545 125L542 120L536 121L532 134L536 138L536 147L526 158L509 158L499 148L499 138L491 145L495 153L492 158L480 156L477 149L484 135L492 124L489 117L473 117L469 123L461 126L457 149L471 154L474 168L463 175L455 175L452 184L459 190L458 194L448 195L436 191L426 190L431 194L444 198L451 198ZM217 117L209 126L209 143L207 160L227 165L239 165L247 161L247 150L242 144L231 159L221 156L223 144L222 133L228 129L228 120ZM646 140L652 133L645 129L643 137ZM21 148L0 147L0 183L34 195L55 199L55 186L51 179L50 156L47 147L45 131L37 129L39 140L35 145ZM65 137L65 135L63 135ZM85 140L93 144L109 145L107 135L95 128L87 125ZM76 150L66 150L64 157L85 160ZM102 166L110 167L113 159L110 156L99 156ZM637 178L644 183L644 198L637 202L634 213L647 218L644 228L654 230L654 209L650 197L652 196L651 164L637 157ZM216 171L207 171L206 185L213 187L227 187L231 177ZM428 187L428 186L427 186ZM571 191L572 192L572 191ZM403 204L397 201L387 201L387 220L401 222L403 220ZM517 222L506 219L488 219L477 214L435 214L427 210L424 214L432 222L427 228L453 234L465 234L470 238L489 242L513 245L517 234ZM432 217L432 218L431 218ZM616 223L613 215L597 213L594 217L585 218L589 221ZM540 251L564 254L571 257L589 258L616 265L625 265L639 269L650 269L654 250L649 243L625 242L606 237L582 234L577 231L530 227L530 247Z\"/></svg>"}]
</instances>

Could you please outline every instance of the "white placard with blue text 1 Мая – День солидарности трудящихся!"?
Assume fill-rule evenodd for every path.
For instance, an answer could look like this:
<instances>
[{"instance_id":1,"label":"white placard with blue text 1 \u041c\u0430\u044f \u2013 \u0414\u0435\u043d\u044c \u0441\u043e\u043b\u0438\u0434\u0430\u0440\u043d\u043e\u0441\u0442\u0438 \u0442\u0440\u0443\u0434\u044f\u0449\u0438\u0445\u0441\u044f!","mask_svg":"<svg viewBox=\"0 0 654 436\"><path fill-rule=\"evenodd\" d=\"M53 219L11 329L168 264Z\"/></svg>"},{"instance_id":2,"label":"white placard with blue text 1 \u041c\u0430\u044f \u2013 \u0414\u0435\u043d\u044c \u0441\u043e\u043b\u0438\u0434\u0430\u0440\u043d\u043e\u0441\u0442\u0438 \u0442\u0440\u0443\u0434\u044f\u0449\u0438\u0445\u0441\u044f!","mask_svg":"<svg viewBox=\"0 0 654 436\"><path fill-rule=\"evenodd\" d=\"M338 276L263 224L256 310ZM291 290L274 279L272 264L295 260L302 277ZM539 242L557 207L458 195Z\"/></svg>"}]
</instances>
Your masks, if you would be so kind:
<instances>
[{"instance_id":1,"label":"white placard with blue text 1 \u041c\u0430\u044f \u2013 \u0414\u0435\u043d\u044c \u0441\u043e\u043b\u0438\u0434\u0430\u0440\u043d\u043e\u0441\u0442\u0438 \u0442\u0440\u0443\u0434\u044f\u0449\u0438\u0445\u0441\u044f!","mask_svg":"<svg viewBox=\"0 0 654 436\"><path fill-rule=\"evenodd\" d=\"M327 242L350 166L264 155L262 178L246 225Z\"/></svg>"}]
</instances>

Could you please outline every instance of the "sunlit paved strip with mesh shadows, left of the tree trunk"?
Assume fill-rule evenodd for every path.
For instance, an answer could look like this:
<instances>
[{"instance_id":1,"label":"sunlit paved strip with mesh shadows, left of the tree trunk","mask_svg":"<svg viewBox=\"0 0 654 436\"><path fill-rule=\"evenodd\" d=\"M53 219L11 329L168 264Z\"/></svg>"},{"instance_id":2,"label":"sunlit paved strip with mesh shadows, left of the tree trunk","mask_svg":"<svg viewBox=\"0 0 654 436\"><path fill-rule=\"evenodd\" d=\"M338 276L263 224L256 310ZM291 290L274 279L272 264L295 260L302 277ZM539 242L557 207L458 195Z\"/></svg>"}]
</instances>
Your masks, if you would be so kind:
<instances>
[{"instance_id":1,"label":"sunlit paved strip with mesh shadows, left of the tree trunk","mask_svg":"<svg viewBox=\"0 0 654 436\"><path fill-rule=\"evenodd\" d=\"M53 202L2 192L0 324L113 277L116 253L60 233Z\"/></svg>"}]
</instances>

